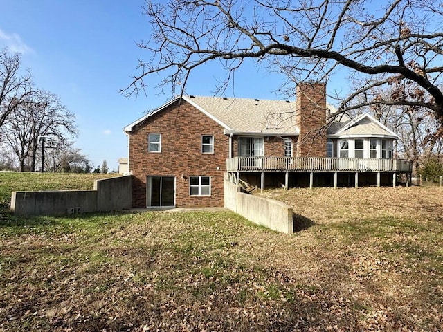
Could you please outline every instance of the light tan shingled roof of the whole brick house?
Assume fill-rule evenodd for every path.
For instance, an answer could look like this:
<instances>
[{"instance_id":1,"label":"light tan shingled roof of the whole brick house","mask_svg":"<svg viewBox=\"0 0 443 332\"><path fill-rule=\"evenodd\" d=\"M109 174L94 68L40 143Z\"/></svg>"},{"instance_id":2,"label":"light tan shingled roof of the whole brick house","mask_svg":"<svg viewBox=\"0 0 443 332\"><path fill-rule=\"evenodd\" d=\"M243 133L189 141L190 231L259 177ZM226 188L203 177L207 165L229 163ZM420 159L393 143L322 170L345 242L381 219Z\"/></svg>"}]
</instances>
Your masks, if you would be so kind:
<instances>
[{"instance_id":1,"label":"light tan shingled roof of the whole brick house","mask_svg":"<svg viewBox=\"0 0 443 332\"><path fill-rule=\"evenodd\" d=\"M183 96L183 100L205 113L207 116L221 124L226 133L257 134L257 135L291 135L297 136L300 132L296 126L296 102L290 100L266 100L248 98L221 98ZM132 127L143 122L154 113L162 111L168 105L177 102L173 98L158 109L148 113L143 118L132 122L125 131L132 131ZM331 112L336 109L327 104ZM325 110L327 111L327 110ZM354 120L349 117L341 118L331 124L327 130L328 136L398 136L383 126L379 121L368 114L362 114Z\"/></svg>"}]
</instances>

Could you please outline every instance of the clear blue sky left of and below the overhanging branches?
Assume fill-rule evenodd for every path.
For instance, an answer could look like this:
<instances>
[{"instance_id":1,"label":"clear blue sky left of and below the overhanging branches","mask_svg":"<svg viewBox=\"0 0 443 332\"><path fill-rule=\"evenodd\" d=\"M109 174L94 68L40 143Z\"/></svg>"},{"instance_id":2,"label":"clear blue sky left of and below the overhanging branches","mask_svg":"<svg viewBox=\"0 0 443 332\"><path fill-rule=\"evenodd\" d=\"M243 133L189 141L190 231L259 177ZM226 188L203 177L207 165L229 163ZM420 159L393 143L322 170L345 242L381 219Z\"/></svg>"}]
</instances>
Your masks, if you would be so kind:
<instances>
[{"instance_id":1,"label":"clear blue sky left of and below the overhanging branches","mask_svg":"<svg viewBox=\"0 0 443 332\"><path fill-rule=\"evenodd\" d=\"M150 37L150 25L142 15L143 0L0 0L0 48L21 53L35 85L60 97L73 111L80 135L75 147L93 165L127 156L123 127L171 98L170 91L147 90L147 97L124 98L125 88L136 75L137 59L149 59L136 42ZM226 95L238 98L278 98L275 90L284 81L277 74L257 72L252 62L236 74L234 89ZM217 66L200 68L186 92L214 95L221 73ZM150 86L161 77L152 77Z\"/></svg>"}]
</instances>

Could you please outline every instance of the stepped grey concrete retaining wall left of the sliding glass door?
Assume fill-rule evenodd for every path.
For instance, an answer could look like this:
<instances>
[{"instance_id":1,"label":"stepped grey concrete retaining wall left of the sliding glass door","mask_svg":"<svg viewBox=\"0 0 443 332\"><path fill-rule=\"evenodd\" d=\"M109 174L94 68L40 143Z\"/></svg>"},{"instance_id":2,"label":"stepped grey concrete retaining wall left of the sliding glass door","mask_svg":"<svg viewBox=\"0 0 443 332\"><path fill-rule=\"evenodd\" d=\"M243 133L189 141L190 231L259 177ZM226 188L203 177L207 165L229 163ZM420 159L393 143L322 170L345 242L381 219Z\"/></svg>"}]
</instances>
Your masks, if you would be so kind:
<instances>
[{"instance_id":1,"label":"stepped grey concrete retaining wall left of the sliding glass door","mask_svg":"<svg viewBox=\"0 0 443 332\"><path fill-rule=\"evenodd\" d=\"M129 209L132 176L94 181L94 190L12 192L11 210L17 215L60 215Z\"/></svg>"}]
</instances>

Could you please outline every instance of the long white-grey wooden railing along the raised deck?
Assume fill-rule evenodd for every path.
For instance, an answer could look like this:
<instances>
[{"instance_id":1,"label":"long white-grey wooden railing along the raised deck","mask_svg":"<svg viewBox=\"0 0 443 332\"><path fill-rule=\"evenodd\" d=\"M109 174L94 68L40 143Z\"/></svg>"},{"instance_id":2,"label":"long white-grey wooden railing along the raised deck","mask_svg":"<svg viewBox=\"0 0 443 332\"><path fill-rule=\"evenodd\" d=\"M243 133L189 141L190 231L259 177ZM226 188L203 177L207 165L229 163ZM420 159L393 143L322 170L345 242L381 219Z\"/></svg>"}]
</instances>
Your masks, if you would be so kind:
<instances>
[{"instance_id":1,"label":"long white-grey wooden railing along the raised deck","mask_svg":"<svg viewBox=\"0 0 443 332\"><path fill-rule=\"evenodd\" d=\"M412 172L405 159L329 157L234 157L226 160L228 172Z\"/></svg>"}]
</instances>

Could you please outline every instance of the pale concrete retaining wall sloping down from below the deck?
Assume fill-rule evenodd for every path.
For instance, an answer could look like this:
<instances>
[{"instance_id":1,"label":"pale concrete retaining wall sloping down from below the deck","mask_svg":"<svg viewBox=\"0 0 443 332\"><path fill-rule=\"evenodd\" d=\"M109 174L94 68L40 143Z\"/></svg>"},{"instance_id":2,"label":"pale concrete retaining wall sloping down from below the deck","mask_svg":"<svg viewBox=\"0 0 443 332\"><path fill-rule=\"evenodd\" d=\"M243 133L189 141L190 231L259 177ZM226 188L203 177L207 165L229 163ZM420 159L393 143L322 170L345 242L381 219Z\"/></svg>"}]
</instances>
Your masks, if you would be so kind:
<instances>
[{"instance_id":1,"label":"pale concrete retaining wall sloping down from below the deck","mask_svg":"<svg viewBox=\"0 0 443 332\"><path fill-rule=\"evenodd\" d=\"M293 233L293 210L289 205L274 199L244 194L235 183L226 179L224 194L225 208L271 230Z\"/></svg>"}]
</instances>

